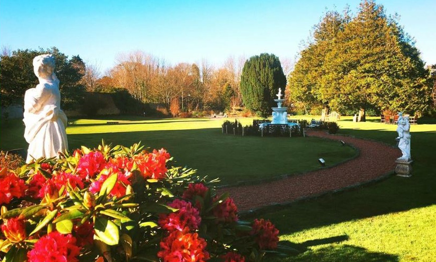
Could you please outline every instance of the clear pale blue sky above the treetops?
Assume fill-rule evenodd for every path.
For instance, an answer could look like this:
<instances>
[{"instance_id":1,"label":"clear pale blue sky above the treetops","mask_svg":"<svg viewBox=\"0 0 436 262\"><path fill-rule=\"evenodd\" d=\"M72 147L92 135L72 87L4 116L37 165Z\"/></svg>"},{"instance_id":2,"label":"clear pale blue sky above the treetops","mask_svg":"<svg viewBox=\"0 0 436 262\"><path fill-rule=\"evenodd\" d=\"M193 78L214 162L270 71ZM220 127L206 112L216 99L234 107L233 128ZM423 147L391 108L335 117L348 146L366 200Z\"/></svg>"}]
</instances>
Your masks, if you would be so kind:
<instances>
[{"instance_id":1,"label":"clear pale blue sky above the treetops","mask_svg":"<svg viewBox=\"0 0 436 262\"><path fill-rule=\"evenodd\" d=\"M58 47L104 72L119 53L220 66L262 52L292 59L326 8L359 0L0 0L0 46ZM378 0L397 12L424 62L436 63L435 0Z\"/></svg>"}]
</instances>

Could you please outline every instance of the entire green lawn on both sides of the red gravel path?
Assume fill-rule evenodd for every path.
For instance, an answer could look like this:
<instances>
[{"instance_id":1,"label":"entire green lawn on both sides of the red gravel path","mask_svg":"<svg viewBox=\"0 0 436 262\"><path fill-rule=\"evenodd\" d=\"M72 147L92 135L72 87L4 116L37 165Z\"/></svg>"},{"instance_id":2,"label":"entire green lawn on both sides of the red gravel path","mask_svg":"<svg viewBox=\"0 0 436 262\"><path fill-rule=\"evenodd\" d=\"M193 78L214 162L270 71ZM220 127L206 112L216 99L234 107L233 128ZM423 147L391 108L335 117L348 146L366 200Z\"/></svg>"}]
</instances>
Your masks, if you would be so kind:
<instances>
[{"instance_id":1,"label":"entire green lawn on both sides of the red gravel path","mask_svg":"<svg viewBox=\"0 0 436 262\"><path fill-rule=\"evenodd\" d=\"M213 170L219 170L216 172L219 176L235 175L235 170L250 170L246 173L249 176L255 176L256 170L262 170L264 175L267 174L265 170L276 170L277 175L303 166L301 161L307 160L301 157L304 152L310 151L313 153L311 157L317 157L337 149L336 143L313 137L286 139L222 135L220 120L118 117L113 120L129 119L133 122L119 125L106 125L108 119L99 120L101 125L97 120L78 120L67 130L70 147L80 144L95 146L101 137L126 145L142 140L152 147L168 148L180 164L197 167L201 174L212 175ZM251 119L242 121L248 124ZM424 123L411 126L412 177L392 176L358 190L301 201L287 208L262 213L261 216L271 219L279 228L281 240L302 251L297 256L277 261L434 261L436 121L427 119L425 123L423 119L419 122ZM342 117L339 125L340 133L395 144L396 126L379 123L377 117L359 123L352 122L351 117ZM0 126L0 148L26 145L19 121L10 121L6 127L1 123ZM300 141L306 147L297 150ZM329 150L314 153L314 148L323 144L327 144ZM331 156L342 153L335 151ZM352 154L351 151L348 156ZM259 158L250 160L250 157L257 156ZM260 159L268 160L259 162ZM300 162L291 163L293 159ZM303 169L317 168L317 163L311 164ZM237 175L242 174L238 171Z\"/></svg>"}]
</instances>

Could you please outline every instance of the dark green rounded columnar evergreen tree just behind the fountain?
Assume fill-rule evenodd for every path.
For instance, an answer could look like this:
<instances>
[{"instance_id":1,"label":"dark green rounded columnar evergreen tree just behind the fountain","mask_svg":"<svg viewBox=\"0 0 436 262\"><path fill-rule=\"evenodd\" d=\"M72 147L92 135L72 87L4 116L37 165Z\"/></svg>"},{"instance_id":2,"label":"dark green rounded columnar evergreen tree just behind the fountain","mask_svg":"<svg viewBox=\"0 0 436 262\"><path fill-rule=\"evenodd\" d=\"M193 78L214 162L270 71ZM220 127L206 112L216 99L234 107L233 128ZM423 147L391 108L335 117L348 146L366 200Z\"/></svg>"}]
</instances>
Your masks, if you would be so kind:
<instances>
[{"instance_id":1,"label":"dark green rounded columnar evergreen tree just behind the fountain","mask_svg":"<svg viewBox=\"0 0 436 262\"><path fill-rule=\"evenodd\" d=\"M250 57L241 74L241 94L244 105L260 115L271 113L274 96L279 88L284 92L286 76L280 60L274 54L262 53Z\"/></svg>"}]
</instances>

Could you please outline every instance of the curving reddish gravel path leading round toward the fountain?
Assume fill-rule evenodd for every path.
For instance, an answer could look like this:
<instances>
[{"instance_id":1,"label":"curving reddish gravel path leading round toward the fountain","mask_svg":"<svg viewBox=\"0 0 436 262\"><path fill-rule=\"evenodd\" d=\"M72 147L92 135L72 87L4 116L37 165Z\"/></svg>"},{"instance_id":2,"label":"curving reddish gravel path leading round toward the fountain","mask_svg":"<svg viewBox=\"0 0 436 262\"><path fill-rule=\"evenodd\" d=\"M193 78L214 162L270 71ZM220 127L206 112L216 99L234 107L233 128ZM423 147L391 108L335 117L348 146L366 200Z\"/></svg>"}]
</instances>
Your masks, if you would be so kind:
<instances>
[{"instance_id":1,"label":"curving reddish gravel path leading round toward the fountain","mask_svg":"<svg viewBox=\"0 0 436 262\"><path fill-rule=\"evenodd\" d=\"M219 192L229 192L239 210L291 202L297 198L315 196L376 179L391 172L395 168L395 159L401 155L398 148L371 140L330 135L322 131L308 131L307 134L343 140L358 148L360 154L335 167L262 184L220 188Z\"/></svg>"}]
</instances>

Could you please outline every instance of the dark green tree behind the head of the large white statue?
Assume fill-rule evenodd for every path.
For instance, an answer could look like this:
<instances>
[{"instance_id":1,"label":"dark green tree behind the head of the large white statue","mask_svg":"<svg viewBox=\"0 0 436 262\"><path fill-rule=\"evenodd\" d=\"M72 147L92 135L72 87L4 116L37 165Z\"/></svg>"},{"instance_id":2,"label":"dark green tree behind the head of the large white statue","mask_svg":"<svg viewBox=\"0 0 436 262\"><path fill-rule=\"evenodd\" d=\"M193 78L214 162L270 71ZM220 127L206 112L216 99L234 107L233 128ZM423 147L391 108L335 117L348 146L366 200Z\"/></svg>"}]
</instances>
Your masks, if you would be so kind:
<instances>
[{"instance_id":1,"label":"dark green tree behind the head of the large white statue","mask_svg":"<svg viewBox=\"0 0 436 262\"><path fill-rule=\"evenodd\" d=\"M58 48L40 50L16 50L12 54L4 54L0 60L1 104L22 104L27 89L38 84L38 78L33 70L33 58L43 53L51 53L56 59L56 74L60 79L62 107L74 107L82 101L84 86L80 80L85 71L85 63L79 55L68 56Z\"/></svg>"}]
</instances>

